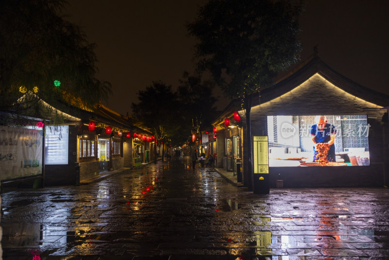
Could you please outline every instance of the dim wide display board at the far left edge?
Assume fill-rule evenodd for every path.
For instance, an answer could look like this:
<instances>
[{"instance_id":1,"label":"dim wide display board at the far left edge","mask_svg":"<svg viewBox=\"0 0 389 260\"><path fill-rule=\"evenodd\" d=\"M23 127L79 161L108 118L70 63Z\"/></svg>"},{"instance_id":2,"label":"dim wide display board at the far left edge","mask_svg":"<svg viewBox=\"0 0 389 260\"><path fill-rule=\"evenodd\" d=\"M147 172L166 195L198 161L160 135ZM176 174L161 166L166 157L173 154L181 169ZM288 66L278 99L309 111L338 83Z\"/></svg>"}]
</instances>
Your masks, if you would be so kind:
<instances>
[{"instance_id":1,"label":"dim wide display board at the far left edge","mask_svg":"<svg viewBox=\"0 0 389 260\"><path fill-rule=\"evenodd\" d=\"M0 180L42 174L43 131L0 126Z\"/></svg>"}]
</instances>

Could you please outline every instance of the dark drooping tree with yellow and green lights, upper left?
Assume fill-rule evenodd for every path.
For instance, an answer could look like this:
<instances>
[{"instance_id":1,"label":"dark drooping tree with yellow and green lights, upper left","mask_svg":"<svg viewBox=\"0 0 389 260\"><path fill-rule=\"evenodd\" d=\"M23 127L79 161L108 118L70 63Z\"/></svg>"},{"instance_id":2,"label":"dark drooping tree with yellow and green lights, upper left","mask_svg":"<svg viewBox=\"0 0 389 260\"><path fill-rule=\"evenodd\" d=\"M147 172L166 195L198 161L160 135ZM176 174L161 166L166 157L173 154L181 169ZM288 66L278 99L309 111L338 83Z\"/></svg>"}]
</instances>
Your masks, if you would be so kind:
<instances>
[{"instance_id":1,"label":"dark drooping tree with yellow and green lights, upper left","mask_svg":"<svg viewBox=\"0 0 389 260\"><path fill-rule=\"evenodd\" d=\"M95 45L58 16L65 3L0 1L1 111L44 118L40 99L91 110L111 93L110 84L95 77Z\"/></svg>"}]
</instances>

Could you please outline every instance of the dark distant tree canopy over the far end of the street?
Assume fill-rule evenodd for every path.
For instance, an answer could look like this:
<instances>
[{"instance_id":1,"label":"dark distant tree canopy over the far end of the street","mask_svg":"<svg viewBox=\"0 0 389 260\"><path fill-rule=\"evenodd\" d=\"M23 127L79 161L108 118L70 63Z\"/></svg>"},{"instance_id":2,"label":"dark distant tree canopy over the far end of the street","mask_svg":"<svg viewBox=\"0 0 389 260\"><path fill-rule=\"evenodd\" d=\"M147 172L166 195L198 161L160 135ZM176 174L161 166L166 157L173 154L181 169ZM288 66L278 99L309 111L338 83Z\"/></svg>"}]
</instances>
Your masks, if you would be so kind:
<instances>
[{"instance_id":1,"label":"dark distant tree canopy over the far end of the street","mask_svg":"<svg viewBox=\"0 0 389 260\"><path fill-rule=\"evenodd\" d=\"M175 147L190 140L193 123L210 126L217 100L212 81L202 81L200 75L184 72L179 82L177 91L161 81L153 82L138 92L139 103L132 103L135 121Z\"/></svg>"}]
</instances>

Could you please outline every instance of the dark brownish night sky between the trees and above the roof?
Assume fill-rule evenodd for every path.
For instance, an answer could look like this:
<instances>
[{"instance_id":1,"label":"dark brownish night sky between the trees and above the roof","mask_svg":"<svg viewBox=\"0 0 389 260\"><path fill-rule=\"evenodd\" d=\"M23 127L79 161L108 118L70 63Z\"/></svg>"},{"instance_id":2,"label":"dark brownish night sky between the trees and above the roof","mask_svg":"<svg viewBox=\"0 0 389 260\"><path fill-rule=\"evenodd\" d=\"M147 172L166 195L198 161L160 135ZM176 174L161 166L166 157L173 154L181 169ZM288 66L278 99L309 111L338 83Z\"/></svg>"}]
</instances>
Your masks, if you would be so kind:
<instances>
[{"instance_id":1,"label":"dark brownish night sky between the trees and above the roof","mask_svg":"<svg viewBox=\"0 0 389 260\"><path fill-rule=\"evenodd\" d=\"M194 21L207 0L68 0L64 14L96 43L97 78L112 84L109 108L131 113L137 92L161 80L175 89L184 70L193 72ZM301 59L313 53L338 73L389 95L387 0L305 0ZM222 95L217 93L217 95ZM222 98L217 108L229 103Z\"/></svg>"}]
</instances>

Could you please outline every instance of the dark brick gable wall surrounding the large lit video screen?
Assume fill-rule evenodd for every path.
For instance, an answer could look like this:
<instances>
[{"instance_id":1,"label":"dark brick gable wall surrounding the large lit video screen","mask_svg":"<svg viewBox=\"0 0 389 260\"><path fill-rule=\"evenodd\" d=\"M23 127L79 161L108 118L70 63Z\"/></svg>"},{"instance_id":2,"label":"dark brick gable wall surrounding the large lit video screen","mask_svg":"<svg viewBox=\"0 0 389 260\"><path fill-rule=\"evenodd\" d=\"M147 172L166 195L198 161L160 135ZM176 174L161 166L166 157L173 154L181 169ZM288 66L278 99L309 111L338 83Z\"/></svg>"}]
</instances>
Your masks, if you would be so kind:
<instances>
[{"instance_id":1,"label":"dark brick gable wall surrounding the large lit video screen","mask_svg":"<svg viewBox=\"0 0 389 260\"><path fill-rule=\"evenodd\" d=\"M251 109L252 136L267 134L267 115L366 114L368 123L371 125L370 166L271 167L270 186L275 187L275 181L279 179L284 180L284 187L383 186L385 175L388 175L385 173L385 166L388 166L389 144L387 130L389 127L384 128L381 122L385 111L342 91L318 74L289 93L253 107ZM242 121L245 121L244 116ZM245 137L246 133L244 134ZM243 147L247 147L245 138L243 140ZM247 168L245 156L243 166Z\"/></svg>"}]
</instances>

